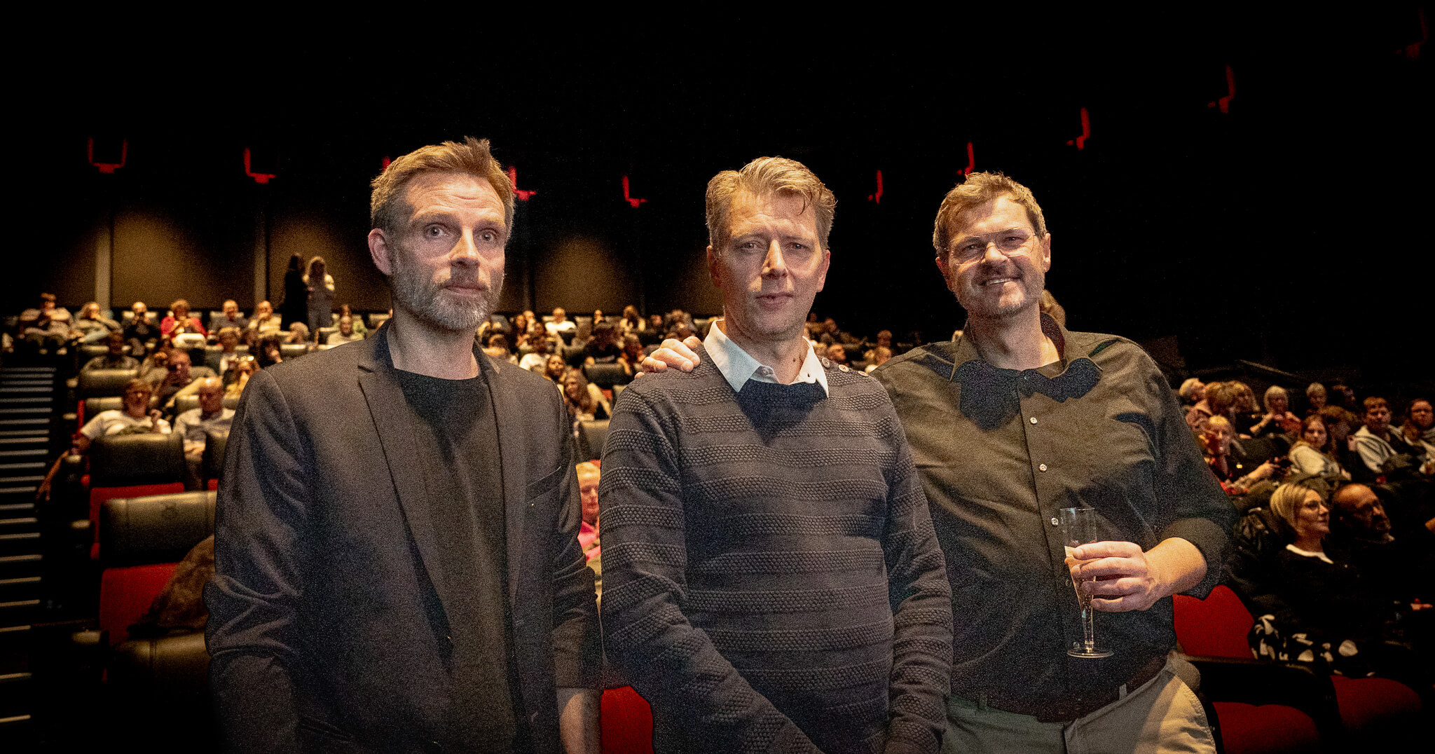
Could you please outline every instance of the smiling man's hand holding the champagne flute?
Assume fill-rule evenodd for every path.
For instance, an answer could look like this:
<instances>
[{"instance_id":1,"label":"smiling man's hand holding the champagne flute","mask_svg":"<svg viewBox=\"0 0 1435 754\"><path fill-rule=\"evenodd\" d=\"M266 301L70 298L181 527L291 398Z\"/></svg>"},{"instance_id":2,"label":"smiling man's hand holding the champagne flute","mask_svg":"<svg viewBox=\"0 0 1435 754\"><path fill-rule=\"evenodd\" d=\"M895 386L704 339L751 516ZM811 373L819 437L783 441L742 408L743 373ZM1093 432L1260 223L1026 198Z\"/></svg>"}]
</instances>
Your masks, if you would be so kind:
<instances>
[{"instance_id":1,"label":"smiling man's hand holding the champagne flute","mask_svg":"<svg viewBox=\"0 0 1435 754\"><path fill-rule=\"evenodd\" d=\"M1072 557L1073 579L1095 579L1082 585L1093 596L1091 606L1109 613L1145 610L1205 576L1201 550L1178 537L1147 551L1134 541L1093 541L1076 547Z\"/></svg>"}]
</instances>

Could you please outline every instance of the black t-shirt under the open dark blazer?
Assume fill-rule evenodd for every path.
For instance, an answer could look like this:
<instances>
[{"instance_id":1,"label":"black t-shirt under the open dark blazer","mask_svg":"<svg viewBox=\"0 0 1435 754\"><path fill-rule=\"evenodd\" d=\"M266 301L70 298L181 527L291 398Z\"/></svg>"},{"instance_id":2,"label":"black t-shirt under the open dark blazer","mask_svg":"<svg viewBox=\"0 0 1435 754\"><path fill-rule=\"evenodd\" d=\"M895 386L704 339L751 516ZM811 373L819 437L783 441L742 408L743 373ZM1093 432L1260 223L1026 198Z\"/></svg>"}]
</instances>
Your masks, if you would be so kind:
<instances>
[{"instance_id":1,"label":"black t-shirt under the open dark blazer","mask_svg":"<svg viewBox=\"0 0 1435 754\"><path fill-rule=\"evenodd\" d=\"M438 536L449 603L455 744L476 751L518 745L517 691L508 653L507 546L498 427L482 376L441 379L397 371L413 406L425 504Z\"/></svg>"}]
</instances>

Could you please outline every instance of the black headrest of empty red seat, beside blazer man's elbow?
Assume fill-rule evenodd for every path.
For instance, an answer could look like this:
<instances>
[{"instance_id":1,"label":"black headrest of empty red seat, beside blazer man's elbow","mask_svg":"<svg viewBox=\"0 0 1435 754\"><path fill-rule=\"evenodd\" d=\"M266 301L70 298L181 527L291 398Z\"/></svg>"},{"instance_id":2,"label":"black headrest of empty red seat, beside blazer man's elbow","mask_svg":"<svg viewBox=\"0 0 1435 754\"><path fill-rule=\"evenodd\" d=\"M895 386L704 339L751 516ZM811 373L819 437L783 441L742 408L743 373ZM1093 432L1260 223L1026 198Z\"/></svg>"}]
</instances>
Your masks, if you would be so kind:
<instances>
[{"instance_id":1,"label":"black headrest of empty red seat, beside blazer man's elbow","mask_svg":"<svg viewBox=\"0 0 1435 754\"><path fill-rule=\"evenodd\" d=\"M214 534L214 493L106 500L99 514L105 567L177 563Z\"/></svg>"}]
</instances>

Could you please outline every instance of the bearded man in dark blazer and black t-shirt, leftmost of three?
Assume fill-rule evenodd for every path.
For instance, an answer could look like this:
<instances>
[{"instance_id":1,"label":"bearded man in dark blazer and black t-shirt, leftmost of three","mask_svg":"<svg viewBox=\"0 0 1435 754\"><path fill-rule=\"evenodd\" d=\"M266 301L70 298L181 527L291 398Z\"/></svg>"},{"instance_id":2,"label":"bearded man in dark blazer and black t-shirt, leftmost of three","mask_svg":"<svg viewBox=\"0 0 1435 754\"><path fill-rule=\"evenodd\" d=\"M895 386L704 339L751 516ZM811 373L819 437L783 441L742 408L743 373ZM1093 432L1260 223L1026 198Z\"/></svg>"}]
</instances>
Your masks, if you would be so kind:
<instances>
[{"instance_id":1,"label":"bearded man in dark blazer and black t-shirt, leftmost of three","mask_svg":"<svg viewBox=\"0 0 1435 754\"><path fill-rule=\"evenodd\" d=\"M597 616L567 412L479 350L514 191L486 141L375 178L393 317L254 375L215 521L232 751L597 751Z\"/></svg>"}]
</instances>

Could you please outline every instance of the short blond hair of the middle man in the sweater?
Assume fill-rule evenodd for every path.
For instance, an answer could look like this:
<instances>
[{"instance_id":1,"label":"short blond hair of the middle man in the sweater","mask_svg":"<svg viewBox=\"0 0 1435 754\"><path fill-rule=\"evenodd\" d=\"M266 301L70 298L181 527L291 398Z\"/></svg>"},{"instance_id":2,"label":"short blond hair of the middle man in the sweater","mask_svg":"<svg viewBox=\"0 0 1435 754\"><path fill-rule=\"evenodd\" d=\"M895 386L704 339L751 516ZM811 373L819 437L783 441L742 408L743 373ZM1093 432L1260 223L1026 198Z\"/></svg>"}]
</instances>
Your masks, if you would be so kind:
<instances>
[{"instance_id":1,"label":"short blond hair of the middle man in the sweater","mask_svg":"<svg viewBox=\"0 0 1435 754\"><path fill-rule=\"evenodd\" d=\"M739 191L753 197L768 194L802 197L802 211L817 213L817 236L827 251L827 237L832 233L837 195L806 165L785 157L759 157L742 169L725 169L707 181L707 244L715 251L728 246L728 220Z\"/></svg>"}]
</instances>

